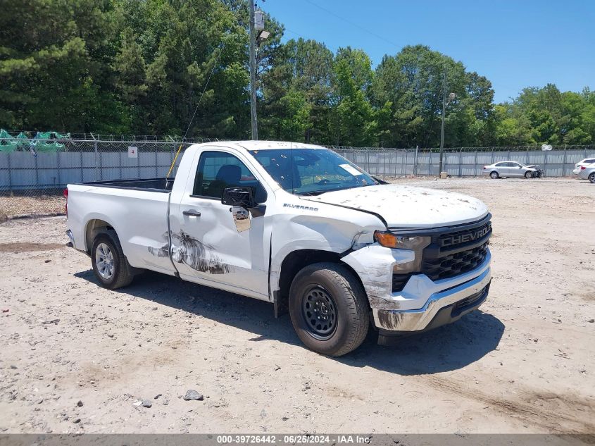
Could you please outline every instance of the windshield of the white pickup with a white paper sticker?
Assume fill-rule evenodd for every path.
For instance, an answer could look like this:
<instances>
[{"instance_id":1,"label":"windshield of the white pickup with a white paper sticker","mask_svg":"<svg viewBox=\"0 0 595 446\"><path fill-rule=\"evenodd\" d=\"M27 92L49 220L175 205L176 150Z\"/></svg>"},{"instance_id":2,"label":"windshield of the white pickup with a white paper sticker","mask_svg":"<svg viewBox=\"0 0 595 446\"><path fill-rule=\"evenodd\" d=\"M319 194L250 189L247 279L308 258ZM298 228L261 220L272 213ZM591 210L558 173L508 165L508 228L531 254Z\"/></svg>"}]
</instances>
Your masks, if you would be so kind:
<instances>
[{"instance_id":1,"label":"windshield of the white pickup with a white paper sticker","mask_svg":"<svg viewBox=\"0 0 595 446\"><path fill-rule=\"evenodd\" d=\"M329 149L252 150L254 158L292 194L317 195L378 182Z\"/></svg>"}]
</instances>

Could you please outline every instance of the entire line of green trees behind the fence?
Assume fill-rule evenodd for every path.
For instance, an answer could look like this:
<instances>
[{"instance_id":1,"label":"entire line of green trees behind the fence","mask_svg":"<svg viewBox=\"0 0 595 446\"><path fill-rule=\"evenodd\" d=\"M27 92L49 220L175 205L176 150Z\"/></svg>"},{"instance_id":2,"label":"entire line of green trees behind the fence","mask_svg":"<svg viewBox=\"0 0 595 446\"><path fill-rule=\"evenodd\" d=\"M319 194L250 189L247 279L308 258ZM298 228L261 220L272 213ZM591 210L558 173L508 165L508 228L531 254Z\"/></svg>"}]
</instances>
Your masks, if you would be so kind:
<instances>
[{"instance_id":1,"label":"entire line of green trees behind the fence","mask_svg":"<svg viewBox=\"0 0 595 446\"><path fill-rule=\"evenodd\" d=\"M0 0L0 126L249 137L248 6ZM266 28L257 53L261 137L437 147L446 72L456 94L446 108L446 147L595 142L588 88L527 87L494 104L487 78L429 47L403 47L372 70L361 49L282 43L284 27L268 15Z\"/></svg>"}]
</instances>

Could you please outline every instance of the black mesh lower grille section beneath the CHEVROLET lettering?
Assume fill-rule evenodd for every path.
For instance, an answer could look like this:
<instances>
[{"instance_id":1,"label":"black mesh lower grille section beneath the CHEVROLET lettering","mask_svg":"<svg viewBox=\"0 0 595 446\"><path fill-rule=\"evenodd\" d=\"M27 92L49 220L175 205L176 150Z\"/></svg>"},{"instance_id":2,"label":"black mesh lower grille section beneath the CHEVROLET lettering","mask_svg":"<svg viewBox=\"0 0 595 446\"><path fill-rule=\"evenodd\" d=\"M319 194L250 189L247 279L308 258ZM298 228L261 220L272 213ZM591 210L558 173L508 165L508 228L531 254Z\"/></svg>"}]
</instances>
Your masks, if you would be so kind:
<instances>
[{"instance_id":1,"label":"black mesh lower grille section beneath the CHEVROLET lettering","mask_svg":"<svg viewBox=\"0 0 595 446\"><path fill-rule=\"evenodd\" d=\"M467 273L483 263L487 256L489 242L465 251L456 252L436 259L424 258L422 273L432 280L447 279Z\"/></svg>"}]
</instances>

